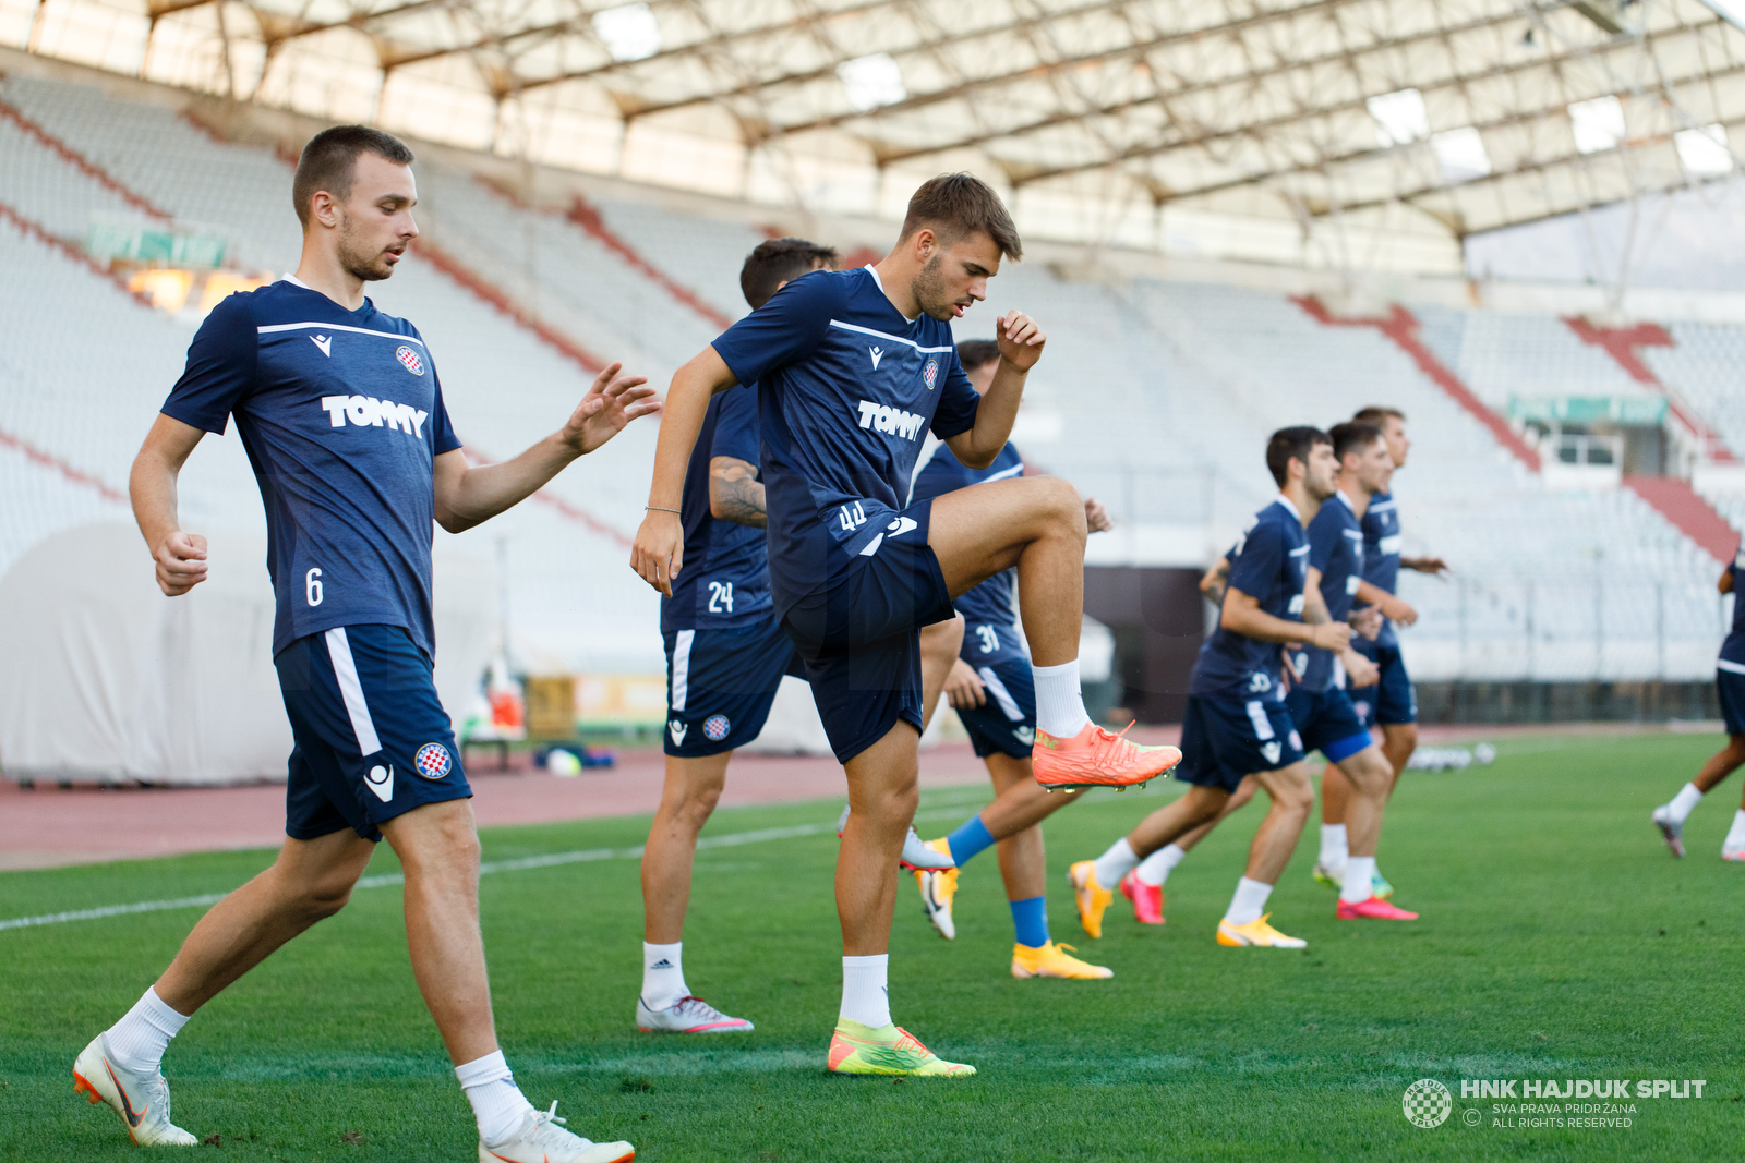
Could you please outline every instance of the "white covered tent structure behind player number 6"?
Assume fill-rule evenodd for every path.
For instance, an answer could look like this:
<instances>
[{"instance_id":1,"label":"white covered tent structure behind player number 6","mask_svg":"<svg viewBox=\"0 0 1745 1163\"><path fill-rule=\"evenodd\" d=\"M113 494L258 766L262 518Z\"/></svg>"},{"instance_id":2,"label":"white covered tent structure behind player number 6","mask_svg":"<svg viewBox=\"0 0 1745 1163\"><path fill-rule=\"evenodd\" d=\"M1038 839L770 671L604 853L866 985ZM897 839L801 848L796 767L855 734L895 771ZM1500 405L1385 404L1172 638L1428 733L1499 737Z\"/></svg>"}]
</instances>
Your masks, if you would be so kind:
<instances>
[{"instance_id":1,"label":"white covered tent structure behind player number 6","mask_svg":"<svg viewBox=\"0 0 1745 1163\"><path fill-rule=\"evenodd\" d=\"M211 579L171 600L131 525L37 544L0 579L0 767L14 779L284 779L265 556L258 535L213 535ZM487 567L436 560L436 689L450 715L466 713L489 657L492 593Z\"/></svg>"}]
</instances>

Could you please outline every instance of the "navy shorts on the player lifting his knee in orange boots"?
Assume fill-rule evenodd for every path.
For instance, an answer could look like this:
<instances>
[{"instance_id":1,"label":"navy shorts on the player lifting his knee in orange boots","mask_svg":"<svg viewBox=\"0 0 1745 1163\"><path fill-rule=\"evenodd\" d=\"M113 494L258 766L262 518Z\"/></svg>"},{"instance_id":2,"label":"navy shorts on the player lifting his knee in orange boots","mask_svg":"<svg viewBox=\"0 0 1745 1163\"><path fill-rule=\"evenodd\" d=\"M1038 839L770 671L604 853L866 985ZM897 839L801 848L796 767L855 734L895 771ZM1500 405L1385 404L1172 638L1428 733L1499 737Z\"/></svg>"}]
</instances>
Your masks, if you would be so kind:
<instances>
[{"instance_id":1,"label":"navy shorts on the player lifting his knee in orange boots","mask_svg":"<svg viewBox=\"0 0 1745 1163\"><path fill-rule=\"evenodd\" d=\"M782 616L841 764L899 718L921 729L920 631L958 616L927 544L932 513L932 499L897 513L872 553L838 556L827 584Z\"/></svg>"}]
</instances>

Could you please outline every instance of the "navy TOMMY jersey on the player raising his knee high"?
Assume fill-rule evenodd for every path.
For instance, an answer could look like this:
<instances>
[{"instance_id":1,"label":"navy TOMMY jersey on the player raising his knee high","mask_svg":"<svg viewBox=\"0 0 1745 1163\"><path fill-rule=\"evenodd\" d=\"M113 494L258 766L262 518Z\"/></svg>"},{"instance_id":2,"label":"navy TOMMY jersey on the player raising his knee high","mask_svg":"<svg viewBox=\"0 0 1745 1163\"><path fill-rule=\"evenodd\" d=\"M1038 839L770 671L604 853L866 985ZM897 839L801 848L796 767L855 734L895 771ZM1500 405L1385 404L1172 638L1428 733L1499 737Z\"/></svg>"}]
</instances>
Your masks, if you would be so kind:
<instances>
[{"instance_id":1,"label":"navy TOMMY jersey on the player raising his knee high","mask_svg":"<svg viewBox=\"0 0 1745 1163\"><path fill-rule=\"evenodd\" d=\"M770 589L785 614L848 558L909 532L895 514L925 432L967 432L979 398L951 324L904 319L871 267L794 279L714 347L757 384Z\"/></svg>"}]
</instances>

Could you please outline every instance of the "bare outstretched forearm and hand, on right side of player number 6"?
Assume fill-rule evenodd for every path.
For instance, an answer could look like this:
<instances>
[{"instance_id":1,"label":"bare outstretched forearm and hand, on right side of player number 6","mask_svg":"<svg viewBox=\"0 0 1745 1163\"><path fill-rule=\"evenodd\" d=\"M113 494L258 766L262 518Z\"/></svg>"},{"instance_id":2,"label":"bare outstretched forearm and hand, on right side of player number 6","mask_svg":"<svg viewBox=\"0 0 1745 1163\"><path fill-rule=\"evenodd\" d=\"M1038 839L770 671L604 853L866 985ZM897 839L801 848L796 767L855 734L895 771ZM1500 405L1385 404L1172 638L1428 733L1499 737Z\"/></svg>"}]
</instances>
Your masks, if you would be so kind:
<instances>
[{"instance_id":1,"label":"bare outstretched forearm and hand, on right side of player number 6","mask_svg":"<svg viewBox=\"0 0 1745 1163\"><path fill-rule=\"evenodd\" d=\"M436 523L450 534L482 525L539 492L576 457L612 439L637 417L660 411L647 378L619 375L621 368L614 363L600 371L564 427L513 460L469 467L459 448L436 457Z\"/></svg>"}]
</instances>

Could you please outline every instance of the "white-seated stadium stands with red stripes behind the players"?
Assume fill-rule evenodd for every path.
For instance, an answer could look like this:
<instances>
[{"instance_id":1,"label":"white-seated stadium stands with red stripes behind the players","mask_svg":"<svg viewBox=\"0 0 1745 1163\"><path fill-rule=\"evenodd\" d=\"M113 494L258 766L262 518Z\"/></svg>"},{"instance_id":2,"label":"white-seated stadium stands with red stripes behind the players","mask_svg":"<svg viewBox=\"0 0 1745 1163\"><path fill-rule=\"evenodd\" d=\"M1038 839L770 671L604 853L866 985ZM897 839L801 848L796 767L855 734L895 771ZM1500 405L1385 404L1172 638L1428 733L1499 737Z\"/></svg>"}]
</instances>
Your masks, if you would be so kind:
<instances>
[{"instance_id":1,"label":"white-seated stadium stands with red stripes behind the players","mask_svg":"<svg viewBox=\"0 0 1745 1163\"><path fill-rule=\"evenodd\" d=\"M72 368L54 342L37 356L0 354L9 384L24 385L0 403L0 473L19 481L19 495L44 497L0 530L3 570L33 537L117 513L126 464L190 338L188 319L73 262L91 223L173 214L225 232L246 270L291 267L298 235L286 159L223 141L173 103L16 77L0 82L0 204L19 218L0 228L0 260L28 272L0 302L61 337L61 350L80 352ZM421 164L419 178L428 244L375 298L429 337L455 425L480 459L550 431L604 359L625 357L656 382L670 375L721 317L743 314L738 262L766 237L743 218L621 194L567 214L536 209L447 155ZM1511 396L1668 391L1722 443L1745 446L1745 405L1728 378L1745 328L1666 324L1672 345L1640 349L1656 385L1555 316L1415 303L1401 316L1420 342L1412 350L1386 326L1337 326L1351 321L1279 293L1080 281L1042 262L1009 263L960 337L986 335L1010 307L1050 331L1014 439L1110 506L1129 537L1120 553L1143 558L1146 530L1185 530L1178 551L1188 544L1209 560L1272 493L1256 455L1270 429L1391 403L1412 417L1415 439L1396 488L1408 551L1433 549L1459 568L1452 582L1405 579L1403 596L1424 614L1408 638L1417 675L1708 673L1722 614L1712 554L1628 488L1544 488L1497 417ZM77 338L70 321L92 316L108 342ZM558 478L543 504L459 539L440 535L501 563L525 656L574 670L660 670L646 633L653 596L623 565L653 441L654 425L633 427ZM255 528L246 462L234 436L223 445L225 455L190 466L190 520ZM1735 523L1745 520L1745 497L1710 497Z\"/></svg>"}]
</instances>

